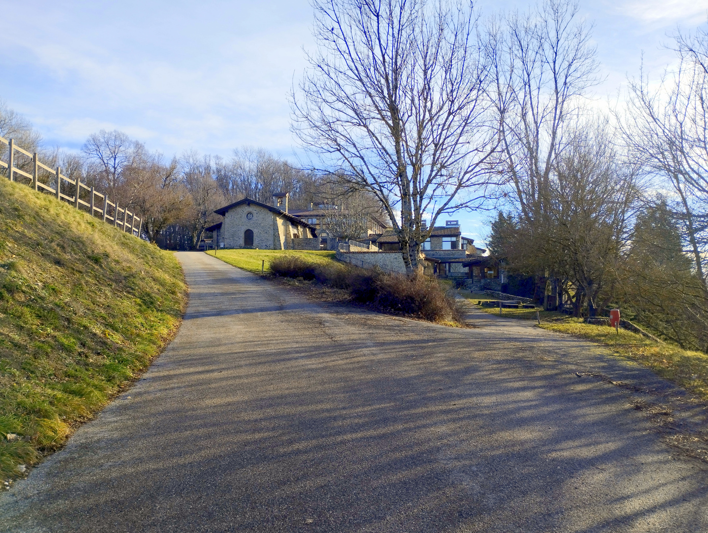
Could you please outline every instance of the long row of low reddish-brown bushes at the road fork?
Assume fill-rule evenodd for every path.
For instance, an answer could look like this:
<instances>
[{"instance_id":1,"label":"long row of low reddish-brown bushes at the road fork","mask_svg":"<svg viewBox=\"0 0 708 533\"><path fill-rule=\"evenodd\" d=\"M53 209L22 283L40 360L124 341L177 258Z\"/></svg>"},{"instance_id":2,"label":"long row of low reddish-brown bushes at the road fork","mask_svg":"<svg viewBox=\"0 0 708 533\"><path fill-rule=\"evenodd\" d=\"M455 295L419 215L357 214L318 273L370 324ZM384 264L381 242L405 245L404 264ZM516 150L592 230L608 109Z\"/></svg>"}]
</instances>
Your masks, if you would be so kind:
<instances>
[{"instance_id":1,"label":"long row of low reddish-brown bushes at the road fork","mask_svg":"<svg viewBox=\"0 0 708 533\"><path fill-rule=\"evenodd\" d=\"M377 311L432 322L460 322L455 299L445 293L437 280L422 274L408 277L352 265L317 265L296 256L274 259L269 270L276 276L302 277L303 280L315 280L348 290L353 302L367 304Z\"/></svg>"}]
</instances>

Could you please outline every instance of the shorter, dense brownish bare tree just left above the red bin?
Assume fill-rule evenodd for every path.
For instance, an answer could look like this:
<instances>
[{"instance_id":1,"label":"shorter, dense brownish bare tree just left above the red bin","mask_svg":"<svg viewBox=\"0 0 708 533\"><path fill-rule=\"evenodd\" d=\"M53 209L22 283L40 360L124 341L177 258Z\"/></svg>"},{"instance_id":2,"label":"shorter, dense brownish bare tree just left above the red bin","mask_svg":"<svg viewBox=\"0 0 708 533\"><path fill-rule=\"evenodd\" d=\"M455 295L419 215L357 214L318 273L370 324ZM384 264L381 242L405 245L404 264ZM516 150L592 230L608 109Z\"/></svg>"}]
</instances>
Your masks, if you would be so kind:
<instances>
[{"instance_id":1,"label":"shorter, dense brownish bare tree just left above the red bin","mask_svg":"<svg viewBox=\"0 0 708 533\"><path fill-rule=\"evenodd\" d=\"M570 280L576 316L582 296L590 316L615 295L617 265L628 240L640 187L636 168L619 162L607 127L583 128L554 166L551 180L552 268ZM560 252L560 253L559 253ZM566 286L566 292L570 294Z\"/></svg>"}]
</instances>

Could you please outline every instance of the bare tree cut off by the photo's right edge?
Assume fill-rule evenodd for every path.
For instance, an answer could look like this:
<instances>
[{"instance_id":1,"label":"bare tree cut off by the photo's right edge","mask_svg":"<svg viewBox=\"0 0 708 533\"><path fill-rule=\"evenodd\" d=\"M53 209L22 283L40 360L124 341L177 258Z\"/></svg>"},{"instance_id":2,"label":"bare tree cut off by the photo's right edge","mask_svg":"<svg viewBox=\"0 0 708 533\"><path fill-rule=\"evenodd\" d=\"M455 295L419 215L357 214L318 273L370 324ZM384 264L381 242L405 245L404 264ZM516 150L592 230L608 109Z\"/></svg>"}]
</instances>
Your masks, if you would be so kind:
<instances>
[{"instance_id":1,"label":"bare tree cut off by the photo's right edge","mask_svg":"<svg viewBox=\"0 0 708 533\"><path fill-rule=\"evenodd\" d=\"M673 190L675 214L708 309L708 34L675 35L679 64L653 90L642 74L630 84L621 120L632 156Z\"/></svg>"}]
</instances>

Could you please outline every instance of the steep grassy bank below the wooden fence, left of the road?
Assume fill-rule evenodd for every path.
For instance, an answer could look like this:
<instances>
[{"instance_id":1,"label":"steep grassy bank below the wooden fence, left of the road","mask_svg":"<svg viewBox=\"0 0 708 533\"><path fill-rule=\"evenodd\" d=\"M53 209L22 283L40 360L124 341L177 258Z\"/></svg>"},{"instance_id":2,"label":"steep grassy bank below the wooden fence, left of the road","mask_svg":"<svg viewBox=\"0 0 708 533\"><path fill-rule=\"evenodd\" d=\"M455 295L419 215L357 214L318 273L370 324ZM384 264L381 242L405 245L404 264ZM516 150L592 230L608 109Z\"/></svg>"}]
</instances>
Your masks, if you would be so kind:
<instances>
[{"instance_id":1,"label":"steep grassy bank below the wooden fence, left of the road","mask_svg":"<svg viewBox=\"0 0 708 533\"><path fill-rule=\"evenodd\" d=\"M145 369L185 294L172 253L0 180L0 478L61 446Z\"/></svg>"}]
</instances>

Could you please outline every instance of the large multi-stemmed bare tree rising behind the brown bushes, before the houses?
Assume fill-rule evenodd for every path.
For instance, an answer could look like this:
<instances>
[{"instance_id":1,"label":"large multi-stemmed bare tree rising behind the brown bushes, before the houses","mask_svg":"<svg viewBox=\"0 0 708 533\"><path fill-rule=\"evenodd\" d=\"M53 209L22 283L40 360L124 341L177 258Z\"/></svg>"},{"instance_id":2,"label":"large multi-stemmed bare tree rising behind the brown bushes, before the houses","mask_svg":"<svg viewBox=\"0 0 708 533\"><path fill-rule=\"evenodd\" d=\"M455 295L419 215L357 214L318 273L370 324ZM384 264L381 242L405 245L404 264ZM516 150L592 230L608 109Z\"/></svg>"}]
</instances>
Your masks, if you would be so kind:
<instances>
[{"instance_id":1,"label":"large multi-stemmed bare tree rising behind the brown bushes, before the houses","mask_svg":"<svg viewBox=\"0 0 708 533\"><path fill-rule=\"evenodd\" d=\"M315 0L314 11L319 48L292 92L293 130L381 202L411 273L438 217L479 207L494 177L476 17L426 0Z\"/></svg>"}]
</instances>

